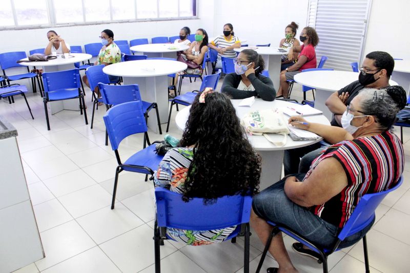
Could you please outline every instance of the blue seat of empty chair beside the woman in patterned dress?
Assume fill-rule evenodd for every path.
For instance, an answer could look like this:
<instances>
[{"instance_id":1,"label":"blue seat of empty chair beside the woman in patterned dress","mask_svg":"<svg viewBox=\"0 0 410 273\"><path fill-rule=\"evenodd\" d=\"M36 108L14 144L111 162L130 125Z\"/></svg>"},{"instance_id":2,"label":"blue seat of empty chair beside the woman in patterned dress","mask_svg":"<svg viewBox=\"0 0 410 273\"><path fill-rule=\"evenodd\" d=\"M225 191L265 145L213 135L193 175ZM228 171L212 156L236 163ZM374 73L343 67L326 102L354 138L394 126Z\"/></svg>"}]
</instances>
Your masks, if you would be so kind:
<instances>
[{"instance_id":1,"label":"blue seat of empty chair beside the woman in patterned dress","mask_svg":"<svg viewBox=\"0 0 410 273\"><path fill-rule=\"evenodd\" d=\"M133 154L124 164L127 165L137 165L137 166L146 166L149 167L152 171L156 171L158 169L159 162L161 162L163 156L157 155L155 153L155 144L148 146L145 149ZM136 172L142 174L151 174L150 171L140 169L136 170L133 167L123 166L122 169L128 172Z\"/></svg>"}]
</instances>

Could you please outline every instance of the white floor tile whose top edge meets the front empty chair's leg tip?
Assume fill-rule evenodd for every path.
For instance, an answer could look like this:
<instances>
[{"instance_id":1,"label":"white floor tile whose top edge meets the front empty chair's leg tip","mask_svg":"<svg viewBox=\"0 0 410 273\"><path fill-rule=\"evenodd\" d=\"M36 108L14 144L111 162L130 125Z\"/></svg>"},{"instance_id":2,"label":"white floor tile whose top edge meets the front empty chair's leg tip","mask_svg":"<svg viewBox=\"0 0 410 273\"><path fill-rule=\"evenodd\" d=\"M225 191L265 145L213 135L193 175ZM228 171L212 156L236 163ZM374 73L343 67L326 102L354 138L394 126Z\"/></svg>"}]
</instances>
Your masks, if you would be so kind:
<instances>
[{"instance_id":1,"label":"white floor tile whose top edge meets the front empty chair's leg tip","mask_svg":"<svg viewBox=\"0 0 410 273\"><path fill-rule=\"evenodd\" d=\"M141 219L121 203L116 203L114 209L111 209L110 205L79 217L77 222L97 244L106 242L144 224Z\"/></svg>"}]
</instances>

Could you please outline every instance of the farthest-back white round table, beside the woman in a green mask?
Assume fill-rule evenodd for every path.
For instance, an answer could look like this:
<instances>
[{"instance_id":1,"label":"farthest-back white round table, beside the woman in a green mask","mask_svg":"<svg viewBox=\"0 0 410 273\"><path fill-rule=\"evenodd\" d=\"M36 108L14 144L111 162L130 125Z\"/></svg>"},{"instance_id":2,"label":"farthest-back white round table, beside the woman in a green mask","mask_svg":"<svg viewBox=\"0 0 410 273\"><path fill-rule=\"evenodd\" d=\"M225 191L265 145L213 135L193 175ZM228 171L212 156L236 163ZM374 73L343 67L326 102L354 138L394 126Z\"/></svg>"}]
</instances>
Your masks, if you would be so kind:
<instances>
[{"instance_id":1,"label":"farthest-back white round table, beside the woman in a green mask","mask_svg":"<svg viewBox=\"0 0 410 273\"><path fill-rule=\"evenodd\" d=\"M154 57L166 57L176 58L177 51L183 51L189 49L187 45L180 44L146 44L130 47L132 51L142 52L149 58Z\"/></svg>"}]
</instances>

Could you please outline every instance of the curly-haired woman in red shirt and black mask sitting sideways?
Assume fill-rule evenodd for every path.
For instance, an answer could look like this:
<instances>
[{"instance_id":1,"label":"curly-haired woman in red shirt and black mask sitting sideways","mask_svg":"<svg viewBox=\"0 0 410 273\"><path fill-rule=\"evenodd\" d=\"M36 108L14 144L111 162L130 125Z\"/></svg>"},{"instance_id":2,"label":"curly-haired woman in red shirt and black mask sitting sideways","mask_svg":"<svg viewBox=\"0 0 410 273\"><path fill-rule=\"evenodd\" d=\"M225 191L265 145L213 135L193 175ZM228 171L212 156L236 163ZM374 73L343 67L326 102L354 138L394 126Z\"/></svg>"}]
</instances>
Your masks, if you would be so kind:
<instances>
[{"instance_id":1,"label":"curly-haired woman in red shirt and black mask sitting sideways","mask_svg":"<svg viewBox=\"0 0 410 273\"><path fill-rule=\"evenodd\" d=\"M288 80L293 80L293 77L303 69L316 68L315 47L319 43L319 36L317 35L316 30L311 27L305 27L300 33L299 39L303 45L293 46L288 52L288 58L290 59L293 57L294 53L300 52L296 64L280 72L280 87L276 96L277 98L288 97Z\"/></svg>"}]
</instances>

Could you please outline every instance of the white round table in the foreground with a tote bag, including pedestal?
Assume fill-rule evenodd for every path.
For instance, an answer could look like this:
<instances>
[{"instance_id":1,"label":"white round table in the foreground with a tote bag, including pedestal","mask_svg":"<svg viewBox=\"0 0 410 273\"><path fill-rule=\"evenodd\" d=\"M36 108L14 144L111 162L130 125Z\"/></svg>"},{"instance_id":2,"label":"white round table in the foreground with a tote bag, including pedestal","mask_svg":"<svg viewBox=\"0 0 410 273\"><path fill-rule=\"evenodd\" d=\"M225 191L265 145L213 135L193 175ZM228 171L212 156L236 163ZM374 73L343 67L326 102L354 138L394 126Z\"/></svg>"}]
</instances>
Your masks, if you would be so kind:
<instances>
[{"instance_id":1,"label":"white round table in the foreground with a tote bag, including pedestal","mask_svg":"<svg viewBox=\"0 0 410 273\"><path fill-rule=\"evenodd\" d=\"M292 106L292 102L283 100L264 101L260 98L255 99L255 103L251 107L238 106L240 99L232 99L231 102L236 109L236 115L241 119L245 114L250 111L261 109L275 109L286 108L286 106ZM188 120L189 111L191 106L179 110L175 117L176 124L179 129L185 129L185 124ZM285 118L289 117L285 115ZM305 117L306 120L311 122L318 122L326 125L330 125L329 120L323 115ZM289 136L286 144L282 147L277 147L273 143L269 142L264 136L255 136L247 134L249 142L253 148L258 151L258 154L262 157L262 174L260 179L260 190L272 185L280 180L282 175L282 163L283 163L283 151L288 149L300 148L319 142L322 138L313 141L293 141ZM283 139L282 135L269 134L274 141L280 141Z\"/></svg>"}]
</instances>

